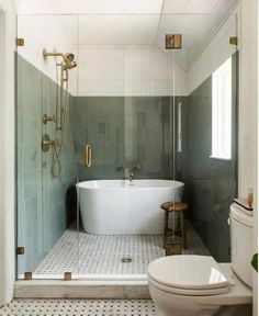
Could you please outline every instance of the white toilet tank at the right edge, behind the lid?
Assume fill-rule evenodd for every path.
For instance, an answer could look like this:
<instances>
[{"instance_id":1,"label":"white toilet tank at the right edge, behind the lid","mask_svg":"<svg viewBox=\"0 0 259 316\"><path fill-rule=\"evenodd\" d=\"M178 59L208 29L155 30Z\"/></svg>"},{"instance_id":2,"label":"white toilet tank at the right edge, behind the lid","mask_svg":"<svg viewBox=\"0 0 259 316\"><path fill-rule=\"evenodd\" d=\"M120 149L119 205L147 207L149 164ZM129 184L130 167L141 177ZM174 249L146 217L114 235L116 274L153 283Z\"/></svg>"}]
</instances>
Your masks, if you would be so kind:
<instances>
[{"instance_id":1,"label":"white toilet tank at the right edge, behind the lid","mask_svg":"<svg viewBox=\"0 0 259 316\"><path fill-rule=\"evenodd\" d=\"M232 268L247 285L252 286L252 216L236 204L232 204L230 246Z\"/></svg>"}]
</instances>

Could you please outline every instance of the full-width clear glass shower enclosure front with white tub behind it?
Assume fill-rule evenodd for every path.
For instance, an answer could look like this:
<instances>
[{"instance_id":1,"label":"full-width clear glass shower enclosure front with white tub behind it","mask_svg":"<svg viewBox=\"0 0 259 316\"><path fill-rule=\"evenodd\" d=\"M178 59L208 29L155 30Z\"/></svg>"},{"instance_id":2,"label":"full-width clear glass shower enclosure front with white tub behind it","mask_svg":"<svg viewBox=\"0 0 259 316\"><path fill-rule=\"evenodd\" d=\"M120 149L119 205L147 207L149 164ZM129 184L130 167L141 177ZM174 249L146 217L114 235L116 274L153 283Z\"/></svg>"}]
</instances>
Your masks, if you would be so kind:
<instances>
[{"instance_id":1,"label":"full-width clear glass shower enclosure front with white tub behind it","mask_svg":"<svg viewBox=\"0 0 259 316\"><path fill-rule=\"evenodd\" d=\"M161 14L19 15L25 37L18 52L18 246L25 245L19 278L32 271L146 280L149 262L166 249L229 259L238 52L228 41L237 16L229 8L193 14L180 7L165 1ZM182 48L166 49L166 35L176 34ZM68 56L44 60L43 48L71 52L78 67ZM212 74L230 56L233 159L223 161L210 158ZM60 61L69 68L68 89ZM45 114L57 122L44 124ZM45 134L58 139L56 150L42 151ZM164 247L167 201L189 204L188 248L179 212L169 214Z\"/></svg>"}]
</instances>

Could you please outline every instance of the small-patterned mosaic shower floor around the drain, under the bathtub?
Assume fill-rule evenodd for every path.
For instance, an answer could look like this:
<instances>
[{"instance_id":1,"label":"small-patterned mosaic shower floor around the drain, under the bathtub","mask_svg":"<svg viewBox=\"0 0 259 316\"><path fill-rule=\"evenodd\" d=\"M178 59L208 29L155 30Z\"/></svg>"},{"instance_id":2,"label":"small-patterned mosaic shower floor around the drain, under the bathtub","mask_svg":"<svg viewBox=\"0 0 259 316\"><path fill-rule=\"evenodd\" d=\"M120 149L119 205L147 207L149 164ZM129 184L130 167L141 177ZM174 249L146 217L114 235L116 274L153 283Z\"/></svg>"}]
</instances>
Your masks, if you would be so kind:
<instances>
[{"instance_id":1,"label":"small-patterned mosaic shower floor around the drain, under the bathtub","mask_svg":"<svg viewBox=\"0 0 259 316\"><path fill-rule=\"evenodd\" d=\"M183 253L210 255L189 222L187 240ZM146 274L148 264L165 256L161 245L161 235L98 236L67 229L34 274Z\"/></svg>"}]
</instances>

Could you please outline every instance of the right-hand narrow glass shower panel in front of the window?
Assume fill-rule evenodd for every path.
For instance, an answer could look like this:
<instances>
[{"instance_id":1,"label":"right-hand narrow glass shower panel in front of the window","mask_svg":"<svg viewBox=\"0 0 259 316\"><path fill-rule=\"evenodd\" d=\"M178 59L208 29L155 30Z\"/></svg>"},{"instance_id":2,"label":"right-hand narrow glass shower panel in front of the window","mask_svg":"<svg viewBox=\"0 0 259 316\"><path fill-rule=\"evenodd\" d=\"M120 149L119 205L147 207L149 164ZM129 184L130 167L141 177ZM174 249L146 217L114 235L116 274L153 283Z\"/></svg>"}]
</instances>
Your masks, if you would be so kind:
<instances>
[{"instance_id":1,"label":"right-hand narrow glass shower panel in front of the window","mask_svg":"<svg viewBox=\"0 0 259 316\"><path fill-rule=\"evenodd\" d=\"M189 204L184 253L211 253L219 262L229 261L227 218L232 199L237 195L238 47L229 44L229 38L237 36L236 23L235 12L226 14L217 10L210 14L165 14L159 35L162 38L164 33L182 34L182 49L169 54L174 60L174 117L179 120L181 109L182 135L181 151L173 150L173 173L176 180L184 183L183 201ZM158 43L162 43L161 38ZM211 157L212 76L229 57L232 160L218 160Z\"/></svg>"}]
</instances>

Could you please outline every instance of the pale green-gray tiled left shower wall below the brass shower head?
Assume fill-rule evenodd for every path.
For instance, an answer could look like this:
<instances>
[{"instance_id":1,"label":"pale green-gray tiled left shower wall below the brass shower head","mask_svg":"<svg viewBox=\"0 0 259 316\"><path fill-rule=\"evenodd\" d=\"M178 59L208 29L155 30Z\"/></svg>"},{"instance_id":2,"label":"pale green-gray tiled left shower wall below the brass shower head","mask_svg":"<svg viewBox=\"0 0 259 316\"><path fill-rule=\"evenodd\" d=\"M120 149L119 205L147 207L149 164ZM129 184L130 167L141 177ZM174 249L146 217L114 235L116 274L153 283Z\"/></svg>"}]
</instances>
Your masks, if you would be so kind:
<instances>
[{"instance_id":1,"label":"pale green-gray tiled left shower wall below the brass shower head","mask_svg":"<svg viewBox=\"0 0 259 316\"><path fill-rule=\"evenodd\" d=\"M18 257L20 275L34 271L65 230L66 193L77 173L69 115L60 177L52 176L52 151L41 148L43 134L55 138L55 124L44 125L42 116L56 114L57 84L20 55L16 76L18 246L25 247Z\"/></svg>"}]
</instances>

